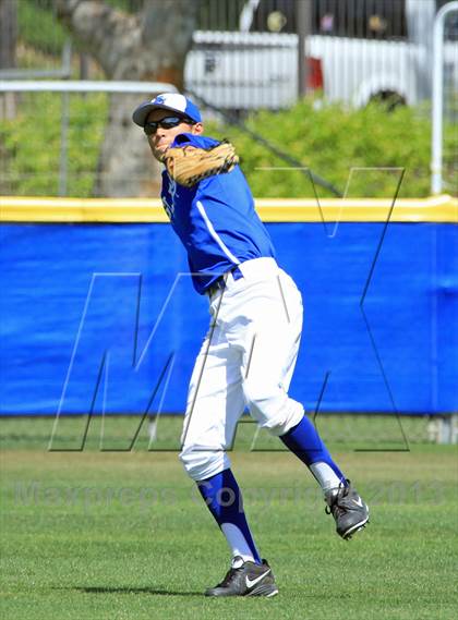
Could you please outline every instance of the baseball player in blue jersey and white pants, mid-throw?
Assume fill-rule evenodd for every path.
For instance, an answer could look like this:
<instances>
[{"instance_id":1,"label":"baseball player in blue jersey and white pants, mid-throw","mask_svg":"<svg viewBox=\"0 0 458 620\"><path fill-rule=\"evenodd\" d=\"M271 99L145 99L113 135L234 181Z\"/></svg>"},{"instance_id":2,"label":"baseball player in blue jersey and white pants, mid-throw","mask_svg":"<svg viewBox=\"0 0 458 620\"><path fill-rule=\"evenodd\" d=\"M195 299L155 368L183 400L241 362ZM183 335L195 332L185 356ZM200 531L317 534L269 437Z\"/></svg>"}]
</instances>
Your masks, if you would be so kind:
<instances>
[{"instance_id":1,"label":"baseball player in blue jersey and white pants, mid-throw","mask_svg":"<svg viewBox=\"0 0 458 620\"><path fill-rule=\"evenodd\" d=\"M288 396L301 294L277 264L233 147L203 135L200 110L183 95L141 104L133 121L166 166L164 207L212 317L191 377L180 453L232 555L224 580L205 594L272 597L278 593L274 574L254 543L226 452L245 406L309 467L342 538L364 527L369 509L303 405Z\"/></svg>"}]
</instances>

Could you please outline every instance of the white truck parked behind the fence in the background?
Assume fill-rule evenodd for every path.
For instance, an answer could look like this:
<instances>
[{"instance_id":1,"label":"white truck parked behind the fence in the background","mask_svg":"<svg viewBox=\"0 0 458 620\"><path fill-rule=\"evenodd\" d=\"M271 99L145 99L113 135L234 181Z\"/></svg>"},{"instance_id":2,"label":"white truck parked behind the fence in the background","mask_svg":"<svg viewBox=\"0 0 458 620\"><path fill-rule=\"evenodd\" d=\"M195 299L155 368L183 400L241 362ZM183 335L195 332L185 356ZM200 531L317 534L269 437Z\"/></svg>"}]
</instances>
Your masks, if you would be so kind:
<instances>
[{"instance_id":1,"label":"white truck parked behind the fence in the background","mask_svg":"<svg viewBox=\"0 0 458 620\"><path fill-rule=\"evenodd\" d=\"M262 0L252 0L241 15L245 32L194 33L184 80L186 88L221 109L250 110L289 107L298 98L298 35L249 32L250 15ZM365 106L373 98L415 105L431 94L432 31L435 0L405 1L408 36L345 36L345 29L312 34L305 39L309 89L321 89L328 101ZM278 22L278 11L277 22ZM321 23L330 13L324 13ZM371 24L383 24L371 15ZM378 22L377 22L378 20ZM315 28L316 31L316 28ZM353 33L351 33L353 34ZM456 41L445 46L446 71L458 85Z\"/></svg>"}]
</instances>

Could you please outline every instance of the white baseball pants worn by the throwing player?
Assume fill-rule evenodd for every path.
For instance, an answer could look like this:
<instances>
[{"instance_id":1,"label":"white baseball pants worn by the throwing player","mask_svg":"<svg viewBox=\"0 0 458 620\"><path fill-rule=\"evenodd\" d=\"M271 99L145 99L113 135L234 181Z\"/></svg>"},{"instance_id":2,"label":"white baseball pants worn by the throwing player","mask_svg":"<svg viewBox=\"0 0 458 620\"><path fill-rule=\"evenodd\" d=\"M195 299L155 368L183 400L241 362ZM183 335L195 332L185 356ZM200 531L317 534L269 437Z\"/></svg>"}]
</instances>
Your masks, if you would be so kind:
<instances>
[{"instance_id":1,"label":"white baseball pants worn by the throwing player","mask_svg":"<svg viewBox=\"0 0 458 620\"><path fill-rule=\"evenodd\" d=\"M273 258L239 265L210 299L209 330L195 361L180 460L194 481L230 466L237 423L248 405L258 425L280 436L303 405L288 397L302 331L302 299Z\"/></svg>"}]
</instances>

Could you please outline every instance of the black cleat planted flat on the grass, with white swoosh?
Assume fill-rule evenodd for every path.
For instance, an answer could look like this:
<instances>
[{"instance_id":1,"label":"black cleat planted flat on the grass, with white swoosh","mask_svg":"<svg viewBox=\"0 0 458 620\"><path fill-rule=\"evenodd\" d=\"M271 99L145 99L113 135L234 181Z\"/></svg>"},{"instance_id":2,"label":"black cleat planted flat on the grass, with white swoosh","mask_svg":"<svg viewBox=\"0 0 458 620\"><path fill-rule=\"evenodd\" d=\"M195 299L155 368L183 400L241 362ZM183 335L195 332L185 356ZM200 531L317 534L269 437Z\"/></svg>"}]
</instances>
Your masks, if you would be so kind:
<instances>
[{"instance_id":1,"label":"black cleat planted flat on the grass, with white swoosh","mask_svg":"<svg viewBox=\"0 0 458 620\"><path fill-rule=\"evenodd\" d=\"M278 594L272 569L266 560L262 564L244 562L237 556L221 583L205 592L205 596L266 596Z\"/></svg>"}]
</instances>

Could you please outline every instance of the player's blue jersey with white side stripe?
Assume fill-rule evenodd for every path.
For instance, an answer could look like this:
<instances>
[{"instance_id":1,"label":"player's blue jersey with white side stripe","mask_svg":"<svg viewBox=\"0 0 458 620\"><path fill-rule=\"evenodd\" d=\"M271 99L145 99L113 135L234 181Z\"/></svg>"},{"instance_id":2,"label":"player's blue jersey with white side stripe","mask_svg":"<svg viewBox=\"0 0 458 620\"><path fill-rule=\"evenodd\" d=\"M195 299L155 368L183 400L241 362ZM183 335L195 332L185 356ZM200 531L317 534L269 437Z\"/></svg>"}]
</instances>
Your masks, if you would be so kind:
<instances>
[{"instance_id":1,"label":"player's blue jersey with white side stripe","mask_svg":"<svg viewBox=\"0 0 458 620\"><path fill-rule=\"evenodd\" d=\"M171 146L208 148L210 137L180 134ZM194 288L205 293L222 273L252 258L274 257L270 238L254 209L238 166L188 189L162 173L161 198L173 230L188 252Z\"/></svg>"}]
</instances>

